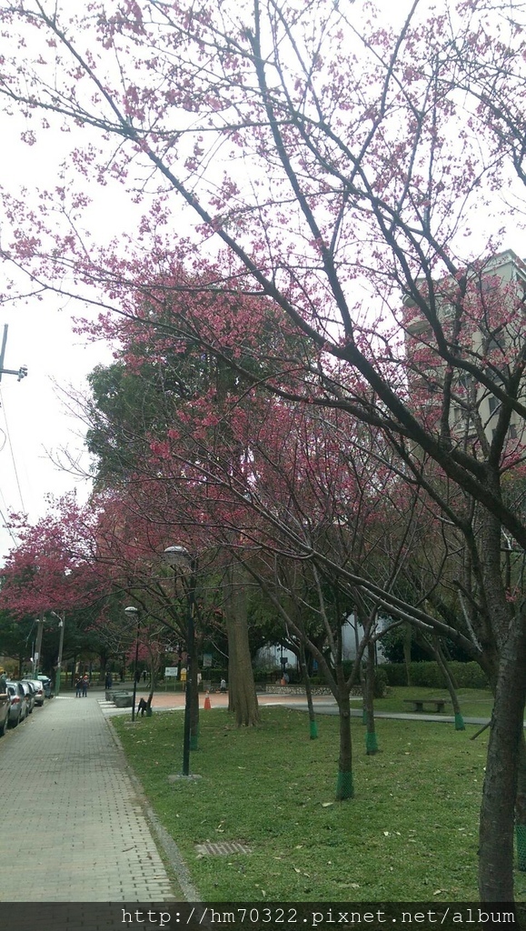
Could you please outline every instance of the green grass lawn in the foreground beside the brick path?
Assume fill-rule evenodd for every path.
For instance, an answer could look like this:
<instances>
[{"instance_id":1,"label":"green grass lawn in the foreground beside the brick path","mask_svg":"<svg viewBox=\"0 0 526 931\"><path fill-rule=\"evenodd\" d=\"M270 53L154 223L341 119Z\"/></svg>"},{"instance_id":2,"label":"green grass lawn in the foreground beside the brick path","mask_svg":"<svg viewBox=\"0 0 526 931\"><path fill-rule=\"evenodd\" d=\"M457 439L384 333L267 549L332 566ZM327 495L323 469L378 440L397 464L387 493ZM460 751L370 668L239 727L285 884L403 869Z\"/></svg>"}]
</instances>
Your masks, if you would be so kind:
<instances>
[{"instance_id":1,"label":"green grass lawn in the foreground beside the brick path","mask_svg":"<svg viewBox=\"0 0 526 931\"><path fill-rule=\"evenodd\" d=\"M353 720L355 798L334 802L338 718L263 708L237 729L201 712L196 780L182 769L182 712L135 725L114 719L128 760L178 844L205 901L475 901L487 734L477 728L379 720L381 752L365 754ZM199 856L196 844L241 841L250 854ZM526 874L517 873L518 898Z\"/></svg>"}]
</instances>

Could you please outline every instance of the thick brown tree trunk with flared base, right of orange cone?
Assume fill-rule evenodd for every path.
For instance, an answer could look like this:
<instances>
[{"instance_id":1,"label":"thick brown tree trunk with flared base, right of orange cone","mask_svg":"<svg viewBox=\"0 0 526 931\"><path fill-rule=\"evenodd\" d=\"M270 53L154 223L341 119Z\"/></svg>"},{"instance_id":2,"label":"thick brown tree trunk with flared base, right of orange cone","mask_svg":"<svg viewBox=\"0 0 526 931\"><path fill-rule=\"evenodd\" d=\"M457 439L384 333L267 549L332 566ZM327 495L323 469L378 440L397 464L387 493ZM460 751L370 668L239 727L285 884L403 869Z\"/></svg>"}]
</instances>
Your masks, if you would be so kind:
<instances>
[{"instance_id":1,"label":"thick brown tree trunk with flared base, right of orange cone","mask_svg":"<svg viewBox=\"0 0 526 931\"><path fill-rule=\"evenodd\" d=\"M224 615L228 637L228 710L236 715L238 727L255 726L260 722L260 710L250 657L246 579L236 560L226 573Z\"/></svg>"}]
</instances>

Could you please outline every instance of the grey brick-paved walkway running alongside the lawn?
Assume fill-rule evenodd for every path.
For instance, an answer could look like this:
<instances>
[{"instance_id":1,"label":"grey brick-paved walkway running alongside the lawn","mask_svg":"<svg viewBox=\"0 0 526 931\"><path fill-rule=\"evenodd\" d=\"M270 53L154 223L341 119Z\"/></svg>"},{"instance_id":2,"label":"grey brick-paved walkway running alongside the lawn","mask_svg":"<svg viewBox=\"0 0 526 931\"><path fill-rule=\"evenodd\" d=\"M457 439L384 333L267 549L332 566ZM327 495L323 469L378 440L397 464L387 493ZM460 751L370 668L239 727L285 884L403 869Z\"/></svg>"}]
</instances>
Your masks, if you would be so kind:
<instances>
[{"instance_id":1,"label":"grey brick-paved walkway running alongside the lawn","mask_svg":"<svg viewBox=\"0 0 526 931\"><path fill-rule=\"evenodd\" d=\"M99 696L48 700L0 739L0 901L181 898Z\"/></svg>"}]
</instances>

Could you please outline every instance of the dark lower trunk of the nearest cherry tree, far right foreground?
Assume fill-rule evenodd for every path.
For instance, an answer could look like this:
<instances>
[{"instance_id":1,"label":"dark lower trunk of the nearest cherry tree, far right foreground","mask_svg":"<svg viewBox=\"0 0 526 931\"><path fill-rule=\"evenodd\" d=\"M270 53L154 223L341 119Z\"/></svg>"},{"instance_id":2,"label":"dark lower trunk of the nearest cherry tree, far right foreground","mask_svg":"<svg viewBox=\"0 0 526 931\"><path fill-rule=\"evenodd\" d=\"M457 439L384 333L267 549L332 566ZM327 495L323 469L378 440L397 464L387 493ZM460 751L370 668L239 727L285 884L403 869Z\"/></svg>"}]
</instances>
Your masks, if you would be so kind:
<instances>
[{"instance_id":1,"label":"dark lower trunk of the nearest cherry tree, far right foreground","mask_svg":"<svg viewBox=\"0 0 526 931\"><path fill-rule=\"evenodd\" d=\"M513 827L526 698L526 627L517 616L500 655L479 829L482 902L513 900Z\"/></svg>"}]
</instances>

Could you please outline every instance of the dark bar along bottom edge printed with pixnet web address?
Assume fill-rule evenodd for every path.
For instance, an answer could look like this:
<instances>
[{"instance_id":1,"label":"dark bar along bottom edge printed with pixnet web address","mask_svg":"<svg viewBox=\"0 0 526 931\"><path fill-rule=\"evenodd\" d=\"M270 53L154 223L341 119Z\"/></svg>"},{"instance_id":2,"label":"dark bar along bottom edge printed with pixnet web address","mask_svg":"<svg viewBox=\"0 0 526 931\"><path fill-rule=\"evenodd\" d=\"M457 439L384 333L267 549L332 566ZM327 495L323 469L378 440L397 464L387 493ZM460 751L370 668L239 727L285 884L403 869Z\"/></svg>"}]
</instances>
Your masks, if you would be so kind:
<instances>
[{"instance_id":1,"label":"dark bar along bottom edge printed with pixnet web address","mask_svg":"<svg viewBox=\"0 0 526 931\"><path fill-rule=\"evenodd\" d=\"M0 902L15 931L526 931L526 905L492 902Z\"/></svg>"}]
</instances>

